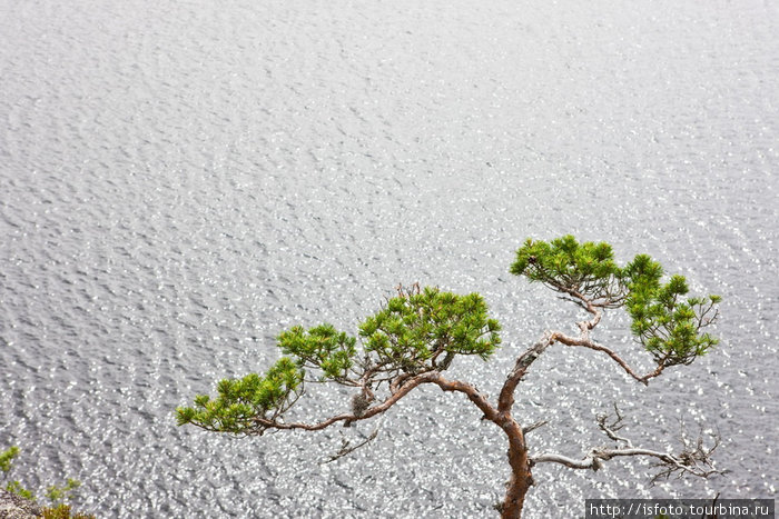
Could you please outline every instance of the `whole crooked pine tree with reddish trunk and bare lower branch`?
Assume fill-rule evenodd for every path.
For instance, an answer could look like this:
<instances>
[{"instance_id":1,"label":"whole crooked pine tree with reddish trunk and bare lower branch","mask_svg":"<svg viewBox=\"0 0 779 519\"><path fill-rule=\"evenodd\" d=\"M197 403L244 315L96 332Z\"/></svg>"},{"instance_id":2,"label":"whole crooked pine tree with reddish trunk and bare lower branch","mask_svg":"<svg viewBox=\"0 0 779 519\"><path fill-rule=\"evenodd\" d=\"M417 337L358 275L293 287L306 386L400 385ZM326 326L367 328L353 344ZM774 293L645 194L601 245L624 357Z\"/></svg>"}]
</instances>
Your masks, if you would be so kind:
<instances>
[{"instance_id":1,"label":"whole crooked pine tree with reddish trunk and bare lower branch","mask_svg":"<svg viewBox=\"0 0 779 519\"><path fill-rule=\"evenodd\" d=\"M614 447L593 448L582 459L533 455L526 436L544 422L522 425L512 409L525 373L554 345L605 355L618 369L643 385L669 368L691 363L718 342L703 332L717 319L718 296L687 297L686 279L672 276L664 281L662 267L649 256L639 254L620 267L610 244L579 243L572 236L549 242L526 240L510 270L554 290L583 309L588 318L578 322L578 335L543 333L516 358L496 400L491 401L473 383L445 376L458 357L477 356L486 361L499 348L501 326L490 318L484 299L477 293L458 296L414 285L408 289L398 287L396 297L359 325L357 337L331 325L308 330L293 327L282 332L278 347L284 357L265 375L221 380L215 398L200 395L194 407L178 408L178 423L238 436L268 430L316 431L375 418L415 388L435 385L443 391L463 393L483 412L483 419L506 436L511 476L505 497L496 507L503 518L521 517L525 495L533 483L532 470L544 462L598 470L617 457L650 457L660 467L655 479L671 475L708 477L717 472L710 458L717 442L711 448L704 448L700 440L686 443L679 453L634 447L619 436L622 417L617 408L614 418L598 418L598 426ZM604 312L620 308L632 320L630 331L637 345L653 361L654 368L648 373L637 372L618 351L592 337ZM313 393L306 387L313 381L354 388L349 410L318 421L288 420L294 405ZM344 446L334 458L361 446Z\"/></svg>"}]
</instances>

